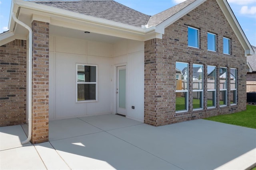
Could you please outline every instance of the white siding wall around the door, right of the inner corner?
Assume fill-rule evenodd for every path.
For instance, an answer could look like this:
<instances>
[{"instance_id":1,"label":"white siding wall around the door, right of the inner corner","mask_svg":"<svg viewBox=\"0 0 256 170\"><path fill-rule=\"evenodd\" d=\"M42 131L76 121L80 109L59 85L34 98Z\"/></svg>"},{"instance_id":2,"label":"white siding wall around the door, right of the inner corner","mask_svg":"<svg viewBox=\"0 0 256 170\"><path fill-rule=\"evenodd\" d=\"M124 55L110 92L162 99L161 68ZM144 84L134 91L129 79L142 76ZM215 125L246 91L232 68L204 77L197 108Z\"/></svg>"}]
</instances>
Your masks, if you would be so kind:
<instances>
[{"instance_id":1,"label":"white siding wall around the door, right of the inner corner","mask_svg":"<svg viewBox=\"0 0 256 170\"><path fill-rule=\"evenodd\" d=\"M113 64L126 64L126 117L144 121L144 42L124 40L114 45ZM135 109L132 109L132 106Z\"/></svg>"}]
</instances>

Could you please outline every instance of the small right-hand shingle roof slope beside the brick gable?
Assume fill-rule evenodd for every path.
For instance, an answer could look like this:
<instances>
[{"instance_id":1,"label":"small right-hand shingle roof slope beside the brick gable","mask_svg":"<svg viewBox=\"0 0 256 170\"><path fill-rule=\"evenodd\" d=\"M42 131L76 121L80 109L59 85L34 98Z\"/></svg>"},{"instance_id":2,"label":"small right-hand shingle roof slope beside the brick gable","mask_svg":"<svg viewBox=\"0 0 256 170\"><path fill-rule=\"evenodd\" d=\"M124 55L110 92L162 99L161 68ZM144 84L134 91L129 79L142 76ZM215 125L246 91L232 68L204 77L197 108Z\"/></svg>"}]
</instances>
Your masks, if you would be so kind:
<instances>
[{"instance_id":1,"label":"small right-hand shingle roof slope beside the brick gable","mask_svg":"<svg viewBox=\"0 0 256 170\"><path fill-rule=\"evenodd\" d=\"M173 6L172 8L169 8L167 10L164 10L163 12L160 12L154 16L151 16L147 23L148 27L156 26L162 23L163 21L167 20L168 18L170 18L180 10L186 8L188 5L190 5L194 1L196 0L186 0L185 2L182 2L176 6Z\"/></svg>"}]
</instances>

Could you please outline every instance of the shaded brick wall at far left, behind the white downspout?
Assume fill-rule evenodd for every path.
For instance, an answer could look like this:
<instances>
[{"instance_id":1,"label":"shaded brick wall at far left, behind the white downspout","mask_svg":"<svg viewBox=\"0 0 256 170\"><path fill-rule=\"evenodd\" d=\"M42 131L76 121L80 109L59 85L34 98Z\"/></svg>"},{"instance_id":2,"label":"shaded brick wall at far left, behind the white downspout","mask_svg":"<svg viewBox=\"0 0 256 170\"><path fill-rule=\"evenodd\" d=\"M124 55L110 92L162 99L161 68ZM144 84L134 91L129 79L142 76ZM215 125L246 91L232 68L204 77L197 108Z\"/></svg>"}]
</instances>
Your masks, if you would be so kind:
<instances>
[{"instance_id":1,"label":"shaded brick wall at far left, behind the white downspout","mask_svg":"<svg viewBox=\"0 0 256 170\"><path fill-rule=\"evenodd\" d=\"M26 41L0 47L0 126L26 123Z\"/></svg>"}]
</instances>

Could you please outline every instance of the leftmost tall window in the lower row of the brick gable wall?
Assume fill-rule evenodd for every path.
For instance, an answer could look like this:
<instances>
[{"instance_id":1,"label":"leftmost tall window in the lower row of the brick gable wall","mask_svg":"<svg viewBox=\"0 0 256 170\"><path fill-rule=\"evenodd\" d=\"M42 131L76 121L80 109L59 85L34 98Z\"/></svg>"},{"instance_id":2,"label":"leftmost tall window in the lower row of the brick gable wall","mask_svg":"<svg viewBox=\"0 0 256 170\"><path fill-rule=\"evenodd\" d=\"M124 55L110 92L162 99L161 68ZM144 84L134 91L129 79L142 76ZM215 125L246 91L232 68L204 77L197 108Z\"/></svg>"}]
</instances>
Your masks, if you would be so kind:
<instances>
[{"instance_id":1,"label":"leftmost tall window in the lower row of the brick gable wall","mask_svg":"<svg viewBox=\"0 0 256 170\"><path fill-rule=\"evenodd\" d=\"M176 62L176 112L188 111L188 63Z\"/></svg>"}]
</instances>

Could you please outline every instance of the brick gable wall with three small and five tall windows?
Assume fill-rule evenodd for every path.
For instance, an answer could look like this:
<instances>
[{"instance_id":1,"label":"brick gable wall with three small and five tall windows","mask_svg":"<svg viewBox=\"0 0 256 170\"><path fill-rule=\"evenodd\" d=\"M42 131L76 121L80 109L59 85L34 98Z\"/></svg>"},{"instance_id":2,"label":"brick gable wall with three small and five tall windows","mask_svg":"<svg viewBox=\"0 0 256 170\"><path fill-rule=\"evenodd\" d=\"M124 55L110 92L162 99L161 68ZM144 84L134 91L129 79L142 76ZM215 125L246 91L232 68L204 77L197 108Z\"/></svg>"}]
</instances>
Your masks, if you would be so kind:
<instances>
[{"instance_id":1,"label":"brick gable wall with three small and five tall windows","mask_svg":"<svg viewBox=\"0 0 256 170\"><path fill-rule=\"evenodd\" d=\"M199 29L199 49L188 47L188 26ZM216 34L217 51L207 50L207 32ZM223 37L231 39L230 55L223 54ZM188 111L176 113L176 61L189 63ZM217 67L216 108L192 109L192 64L204 65L204 94L207 92L207 65ZM228 68L228 103L219 105L220 66ZM230 68L237 68L237 105L230 106ZM145 42L144 122L154 126L167 125L246 109L246 57L236 35L215 0L208 0L165 29L163 39Z\"/></svg>"}]
</instances>

